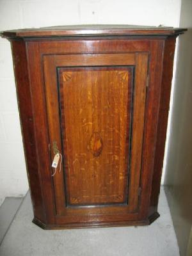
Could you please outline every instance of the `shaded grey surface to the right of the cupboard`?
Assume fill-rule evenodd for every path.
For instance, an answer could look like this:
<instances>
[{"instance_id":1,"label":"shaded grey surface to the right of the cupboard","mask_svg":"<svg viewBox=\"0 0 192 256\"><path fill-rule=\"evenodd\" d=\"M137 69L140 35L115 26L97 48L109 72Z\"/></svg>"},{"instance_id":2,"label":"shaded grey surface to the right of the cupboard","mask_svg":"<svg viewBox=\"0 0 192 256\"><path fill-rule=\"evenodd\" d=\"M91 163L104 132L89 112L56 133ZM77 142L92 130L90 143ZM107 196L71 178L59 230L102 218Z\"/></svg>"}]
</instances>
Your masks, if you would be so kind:
<instances>
[{"instance_id":1,"label":"shaded grey surface to the right of the cupboard","mask_svg":"<svg viewBox=\"0 0 192 256\"><path fill-rule=\"evenodd\" d=\"M179 38L173 110L164 184L177 235L185 256L192 225L192 28ZM192 255L192 252L191 254Z\"/></svg>"}]
</instances>

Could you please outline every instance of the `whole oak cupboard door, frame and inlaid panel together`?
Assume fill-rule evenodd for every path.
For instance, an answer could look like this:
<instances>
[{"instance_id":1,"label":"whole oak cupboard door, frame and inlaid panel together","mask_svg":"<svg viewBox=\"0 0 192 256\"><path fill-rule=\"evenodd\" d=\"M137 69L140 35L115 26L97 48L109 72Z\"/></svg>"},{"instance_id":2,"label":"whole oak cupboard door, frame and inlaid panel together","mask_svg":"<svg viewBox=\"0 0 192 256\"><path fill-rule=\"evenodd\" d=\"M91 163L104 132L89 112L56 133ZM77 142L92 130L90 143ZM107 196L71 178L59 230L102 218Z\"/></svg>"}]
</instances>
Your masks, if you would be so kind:
<instances>
[{"instance_id":1,"label":"whole oak cupboard door, frame and inlaid panel together","mask_svg":"<svg viewBox=\"0 0 192 256\"><path fill-rule=\"evenodd\" d=\"M55 216L63 223L134 220L147 84L146 52L45 55Z\"/></svg>"}]
</instances>

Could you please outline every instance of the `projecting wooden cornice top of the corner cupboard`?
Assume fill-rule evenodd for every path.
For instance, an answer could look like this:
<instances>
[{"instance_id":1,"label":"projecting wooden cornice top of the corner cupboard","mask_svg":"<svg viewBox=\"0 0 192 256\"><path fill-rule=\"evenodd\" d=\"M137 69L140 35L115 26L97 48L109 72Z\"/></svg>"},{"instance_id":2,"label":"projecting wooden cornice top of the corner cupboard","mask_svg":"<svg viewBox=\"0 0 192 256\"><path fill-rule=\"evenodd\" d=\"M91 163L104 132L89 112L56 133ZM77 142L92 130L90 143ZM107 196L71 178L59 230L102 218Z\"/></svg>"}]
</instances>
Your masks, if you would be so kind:
<instances>
[{"instance_id":1,"label":"projecting wooden cornice top of the corner cupboard","mask_svg":"<svg viewBox=\"0 0 192 256\"><path fill-rule=\"evenodd\" d=\"M60 36L172 36L184 33L187 29L172 27L152 27L134 25L77 25L53 26L46 28L15 29L3 31L1 36L7 38L36 38Z\"/></svg>"}]
</instances>

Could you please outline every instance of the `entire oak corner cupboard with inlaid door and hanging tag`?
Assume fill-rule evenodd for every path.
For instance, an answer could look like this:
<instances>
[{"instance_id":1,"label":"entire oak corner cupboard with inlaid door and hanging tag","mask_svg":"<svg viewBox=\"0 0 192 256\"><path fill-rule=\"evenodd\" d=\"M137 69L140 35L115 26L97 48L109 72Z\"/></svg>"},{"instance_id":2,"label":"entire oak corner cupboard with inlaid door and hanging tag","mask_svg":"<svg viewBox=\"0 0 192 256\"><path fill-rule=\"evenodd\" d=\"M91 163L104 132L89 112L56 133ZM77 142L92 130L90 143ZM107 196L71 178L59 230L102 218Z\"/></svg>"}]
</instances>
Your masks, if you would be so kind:
<instances>
[{"instance_id":1,"label":"entire oak corner cupboard with inlaid door and hanging tag","mask_svg":"<svg viewBox=\"0 0 192 256\"><path fill-rule=\"evenodd\" d=\"M1 33L12 45L36 225L148 225L159 217L175 38L184 31L100 25Z\"/></svg>"}]
</instances>

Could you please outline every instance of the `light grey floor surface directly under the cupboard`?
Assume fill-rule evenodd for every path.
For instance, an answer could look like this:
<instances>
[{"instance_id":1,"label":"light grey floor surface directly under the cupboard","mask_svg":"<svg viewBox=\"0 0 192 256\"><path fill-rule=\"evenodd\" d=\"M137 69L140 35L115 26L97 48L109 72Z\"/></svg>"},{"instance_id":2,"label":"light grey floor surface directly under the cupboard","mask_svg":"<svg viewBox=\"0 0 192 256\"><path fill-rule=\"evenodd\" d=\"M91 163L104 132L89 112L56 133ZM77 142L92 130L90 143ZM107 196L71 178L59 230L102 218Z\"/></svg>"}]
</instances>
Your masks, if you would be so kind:
<instances>
[{"instance_id":1,"label":"light grey floor surface directly under the cupboard","mask_svg":"<svg viewBox=\"0 0 192 256\"><path fill-rule=\"evenodd\" d=\"M179 256L170 210L161 189L161 214L148 227L42 230L31 223L29 194L6 232L1 256Z\"/></svg>"}]
</instances>

